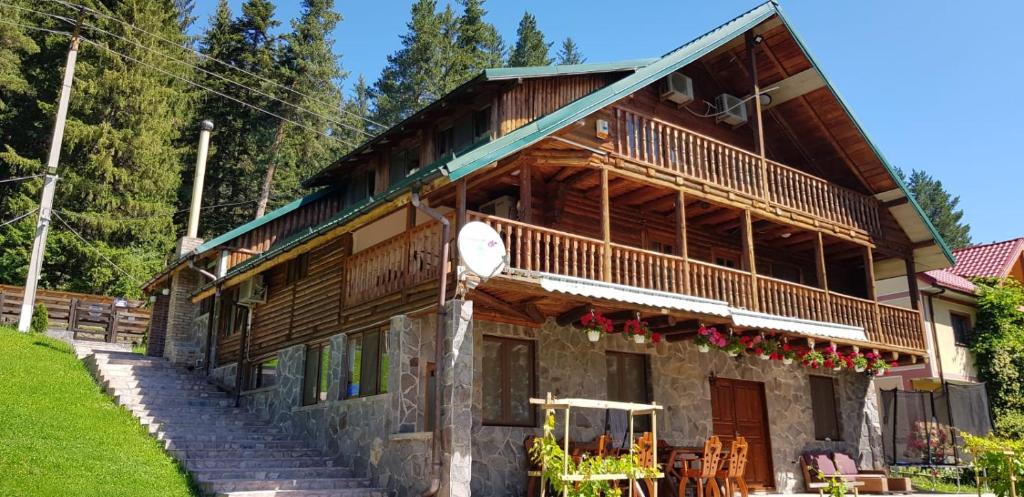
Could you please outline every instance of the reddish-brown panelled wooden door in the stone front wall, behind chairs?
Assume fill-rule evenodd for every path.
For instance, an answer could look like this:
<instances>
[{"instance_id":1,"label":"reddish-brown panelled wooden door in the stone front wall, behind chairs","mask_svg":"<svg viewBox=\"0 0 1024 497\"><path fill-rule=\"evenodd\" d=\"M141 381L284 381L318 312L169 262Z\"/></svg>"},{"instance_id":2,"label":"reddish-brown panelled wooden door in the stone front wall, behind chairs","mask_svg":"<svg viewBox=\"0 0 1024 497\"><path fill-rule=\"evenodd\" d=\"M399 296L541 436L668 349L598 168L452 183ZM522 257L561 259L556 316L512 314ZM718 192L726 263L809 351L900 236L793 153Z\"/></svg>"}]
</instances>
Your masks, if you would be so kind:
<instances>
[{"instance_id":1,"label":"reddish-brown panelled wooden door in the stone front wall, behind chairs","mask_svg":"<svg viewBox=\"0 0 1024 497\"><path fill-rule=\"evenodd\" d=\"M774 487L764 383L712 378L711 412L713 429L722 440L723 452L729 450L736 434L750 444L746 483L754 488Z\"/></svg>"}]
</instances>

